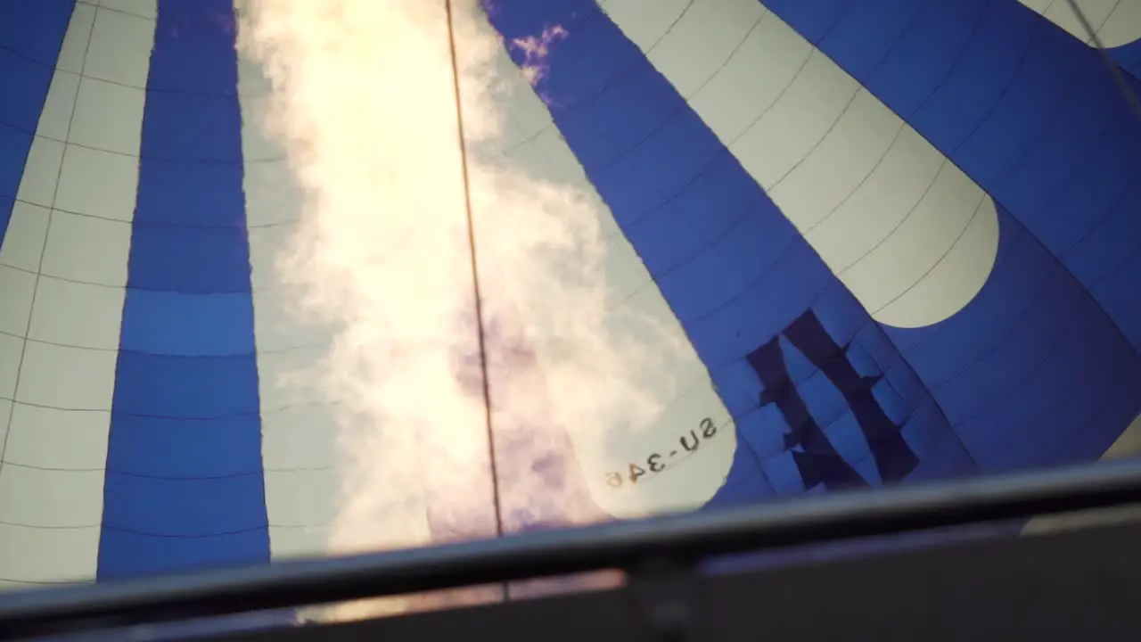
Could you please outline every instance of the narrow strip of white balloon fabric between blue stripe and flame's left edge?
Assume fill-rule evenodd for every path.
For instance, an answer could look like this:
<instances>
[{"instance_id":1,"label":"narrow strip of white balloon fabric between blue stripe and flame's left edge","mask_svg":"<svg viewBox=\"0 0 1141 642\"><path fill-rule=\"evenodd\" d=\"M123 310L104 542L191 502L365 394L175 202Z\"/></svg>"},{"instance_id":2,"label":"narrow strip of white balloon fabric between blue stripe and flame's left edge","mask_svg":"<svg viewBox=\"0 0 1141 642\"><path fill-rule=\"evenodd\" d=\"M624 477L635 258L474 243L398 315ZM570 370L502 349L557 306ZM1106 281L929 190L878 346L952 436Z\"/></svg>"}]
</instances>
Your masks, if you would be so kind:
<instances>
[{"instance_id":1,"label":"narrow strip of white balloon fabric between blue stripe and flame's left edge","mask_svg":"<svg viewBox=\"0 0 1141 642\"><path fill-rule=\"evenodd\" d=\"M244 58L238 91L269 551L274 560L325 555L343 492L337 427L317 391L291 376L311 372L332 335L298 319L277 276L276 262L300 217L300 190L283 152L261 129L268 81Z\"/></svg>"}]
</instances>

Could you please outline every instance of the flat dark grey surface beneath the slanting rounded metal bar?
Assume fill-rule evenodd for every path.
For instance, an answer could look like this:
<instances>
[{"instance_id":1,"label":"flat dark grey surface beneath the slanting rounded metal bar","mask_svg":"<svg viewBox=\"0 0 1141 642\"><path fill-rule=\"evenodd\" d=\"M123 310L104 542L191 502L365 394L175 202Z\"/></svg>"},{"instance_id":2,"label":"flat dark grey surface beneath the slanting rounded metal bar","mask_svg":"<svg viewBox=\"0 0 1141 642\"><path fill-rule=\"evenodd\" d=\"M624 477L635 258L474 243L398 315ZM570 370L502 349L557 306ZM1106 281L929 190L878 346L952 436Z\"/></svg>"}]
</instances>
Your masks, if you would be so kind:
<instances>
[{"instance_id":1,"label":"flat dark grey surface beneath the slanting rounded metal bar","mask_svg":"<svg viewBox=\"0 0 1141 642\"><path fill-rule=\"evenodd\" d=\"M1031 642L1043 631L1055 640L1138 642L1139 538L1141 523L971 541L699 577L680 596L691 601L691 642L833 642L844 634L875 642ZM637 597L633 591L580 593L226 640L455 642L478 632L475 637L488 642L652 642L633 608Z\"/></svg>"}]
</instances>

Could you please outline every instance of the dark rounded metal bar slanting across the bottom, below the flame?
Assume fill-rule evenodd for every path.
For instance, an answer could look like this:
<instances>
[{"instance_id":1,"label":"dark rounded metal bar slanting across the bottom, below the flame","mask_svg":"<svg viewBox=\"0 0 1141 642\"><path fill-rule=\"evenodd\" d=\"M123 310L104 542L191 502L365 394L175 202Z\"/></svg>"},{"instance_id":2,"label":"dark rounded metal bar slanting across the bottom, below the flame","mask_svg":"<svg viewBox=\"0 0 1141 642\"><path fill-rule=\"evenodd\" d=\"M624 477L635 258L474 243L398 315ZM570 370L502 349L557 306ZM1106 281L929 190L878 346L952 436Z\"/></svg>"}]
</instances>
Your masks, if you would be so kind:
<instances>
[{"instance_id":1,"label":"dark rounded metal bar slanting across the bottom, below the flame","mask_svg":"<svg viewBox=\"0 0 1141 642\"><path fill-rule=\"evenodd\" d=\"M628 568L650 556L694 560L1134 501L1141 501L1141 463L837 492L497 540L14 594L0 600L0 637Z\"/></svg>"}]
</instances>

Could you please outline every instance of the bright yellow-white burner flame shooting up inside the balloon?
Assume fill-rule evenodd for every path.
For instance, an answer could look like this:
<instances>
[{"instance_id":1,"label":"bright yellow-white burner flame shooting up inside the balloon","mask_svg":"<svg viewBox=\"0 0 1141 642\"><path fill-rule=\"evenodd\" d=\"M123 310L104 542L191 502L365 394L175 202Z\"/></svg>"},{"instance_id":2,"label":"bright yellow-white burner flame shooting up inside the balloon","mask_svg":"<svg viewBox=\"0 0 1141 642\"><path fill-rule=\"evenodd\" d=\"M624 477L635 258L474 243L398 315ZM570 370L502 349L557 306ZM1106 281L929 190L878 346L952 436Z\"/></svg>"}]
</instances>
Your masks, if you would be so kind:
<instances>
[{"instance_id":1,"label":"bright yellow-white burner flame shooting up inside the balloon","mask_svg":"<svg viewBox=\"0 0 1141 642\"><path fill-rule=\"evenodd\" d=\"M277 276L307 315L335 328L311 372L338 409L335 554L492 537L497 521L515 531L607 519L567 431L605 448L609 431L652 425L672 391L663 364L681 348L636 308L607 308L599 222L609 215L597 199L502 153L513 87L520 74L549 73L567 31L512 42L526 61L504 73L504 43L478 2L453 5L485 364L444 0L240 2L240 48L272 85L262 125L304 193Z\"/></svg>"}]
</instances>

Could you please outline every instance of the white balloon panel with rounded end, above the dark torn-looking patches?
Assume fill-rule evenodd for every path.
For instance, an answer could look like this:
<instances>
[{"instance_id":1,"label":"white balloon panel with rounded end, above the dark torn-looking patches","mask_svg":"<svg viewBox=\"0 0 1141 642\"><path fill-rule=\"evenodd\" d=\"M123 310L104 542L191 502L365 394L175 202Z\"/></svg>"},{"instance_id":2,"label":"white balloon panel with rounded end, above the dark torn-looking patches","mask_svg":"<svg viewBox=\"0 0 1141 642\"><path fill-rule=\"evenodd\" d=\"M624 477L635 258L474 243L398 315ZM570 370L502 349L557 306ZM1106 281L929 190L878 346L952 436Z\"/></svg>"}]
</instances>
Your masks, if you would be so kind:
<instances>
[{"instance_id":1,"label":"white balloon panel with rounded end, above the dark torn-looking patches","mask_svg":"<svg viewBox=\"0 0 1141 642\"><path fill-rule=\"evenodd\" d=\"M874 319L929 326L982 288L990 198L760 2L602 6Z\"/></svg>"}]
</instances>

